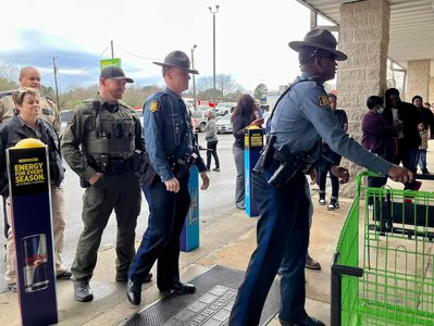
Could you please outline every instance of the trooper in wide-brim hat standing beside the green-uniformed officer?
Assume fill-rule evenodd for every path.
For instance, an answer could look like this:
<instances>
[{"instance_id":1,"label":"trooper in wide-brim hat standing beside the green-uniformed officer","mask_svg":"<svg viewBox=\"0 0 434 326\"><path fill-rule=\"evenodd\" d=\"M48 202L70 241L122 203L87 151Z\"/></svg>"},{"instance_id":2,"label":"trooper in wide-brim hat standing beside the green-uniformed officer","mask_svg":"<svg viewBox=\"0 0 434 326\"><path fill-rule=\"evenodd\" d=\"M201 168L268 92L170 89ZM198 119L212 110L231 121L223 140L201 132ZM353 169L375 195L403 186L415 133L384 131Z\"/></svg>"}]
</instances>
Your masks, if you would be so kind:
<instances>
[{"instance_id":1,"label":"trooper in wide-brim hat standing beside the green-uniformed officer","mask_svg":"<svg viewBox=\"0 0 434 326\"><path fill-rule=\"evenodd\" d=\"M188 89L190 61L182 51L165 57L162 75L166 85L148 98L144 108L145 145L156 177L147 177L144 192L150 208L148 228L131 264L126 296L132 304L140 303L141 284L156 260L157 286L163 292L181 294L196 291L194 285L179 280L179 235L186 218L190 195L189 168L198 166L207 189L207 167L199 155L191 120L181 93ZM148 174L148 173L146 173Z\"/></svg>"}]
</instances>

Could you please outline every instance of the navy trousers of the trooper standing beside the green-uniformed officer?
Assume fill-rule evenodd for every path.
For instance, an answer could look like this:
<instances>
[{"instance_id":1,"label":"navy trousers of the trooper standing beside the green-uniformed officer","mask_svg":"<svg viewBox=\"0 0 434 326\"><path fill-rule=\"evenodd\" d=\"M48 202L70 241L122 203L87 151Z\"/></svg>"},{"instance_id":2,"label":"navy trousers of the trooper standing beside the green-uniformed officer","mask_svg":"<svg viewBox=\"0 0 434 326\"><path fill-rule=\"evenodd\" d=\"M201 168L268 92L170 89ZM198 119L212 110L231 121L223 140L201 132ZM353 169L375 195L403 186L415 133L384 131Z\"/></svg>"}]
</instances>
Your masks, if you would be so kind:
<instances>
[{"instance_id":1,"label":"navy trousers of the trooper standing beside the green-uniformed officer","mask_svg":"<svg viewBox=\"0 0 434 326\"><path fill-rule=\"evenodd\" d=\"M160 290L166 290L179 280L179 235L190 205L188 179L186 173L179 179L181 189L176 193L168 191L160 180L144 186L150 214L148 228L129 266L128 277L134 283L144 283L156 260Z\"/></svg>"}]
</instances>

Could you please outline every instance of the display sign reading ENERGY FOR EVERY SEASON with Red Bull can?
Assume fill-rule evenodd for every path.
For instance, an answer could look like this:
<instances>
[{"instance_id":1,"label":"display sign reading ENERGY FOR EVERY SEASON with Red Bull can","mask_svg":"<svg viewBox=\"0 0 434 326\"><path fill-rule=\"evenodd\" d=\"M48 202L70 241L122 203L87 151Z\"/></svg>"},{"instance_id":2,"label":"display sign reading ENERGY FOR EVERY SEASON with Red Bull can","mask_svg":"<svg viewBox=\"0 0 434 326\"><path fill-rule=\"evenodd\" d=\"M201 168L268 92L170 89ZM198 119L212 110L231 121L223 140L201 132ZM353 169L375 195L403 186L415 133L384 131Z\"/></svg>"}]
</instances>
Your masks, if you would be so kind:
<instances>
[{"instance_id":1,"label":"display sign reading ENERGY FOR EVERY SEASON with Red Bull can","mask_svg":"<svg viewBox=\"0 0 434 326\"><path fill-rule=\"evenodd\" d=\"M23 325L51 325L58 308L47 148L25 140L7 151L21 315Z\"/></svg>"}]
</instances>

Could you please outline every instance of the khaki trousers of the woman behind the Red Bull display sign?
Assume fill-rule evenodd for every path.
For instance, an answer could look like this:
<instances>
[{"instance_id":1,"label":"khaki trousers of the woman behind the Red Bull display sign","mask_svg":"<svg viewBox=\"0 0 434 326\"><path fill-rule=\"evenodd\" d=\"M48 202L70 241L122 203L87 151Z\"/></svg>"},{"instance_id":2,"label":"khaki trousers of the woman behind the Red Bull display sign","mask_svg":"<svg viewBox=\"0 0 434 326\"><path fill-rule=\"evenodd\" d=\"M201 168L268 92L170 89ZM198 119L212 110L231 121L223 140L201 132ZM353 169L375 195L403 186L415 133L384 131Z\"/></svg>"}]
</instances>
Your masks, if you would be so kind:
<instances>
[{"instance_id":1,"label":"khaki trousers of the woman behind the Red Bull display sign","mask_svg":"<svg viewBox=\"0 0 434 326\"><path fill-rule=\"evenodd\" d=\"M9 284L16 283L16 256L15 248L13 242L13 224L12 224L12 212L11 203L9 198L7 199L7 211L8 222L11 226L8 231L7 240L7 272L4 274L4 280ZM55 262L55 274L62 274L65 271L65 266L62 261L62 251L64 244L63 231L65 229L65 204L64 204L64 192L62 186L58 188L51 185L51 214L52 214L52 228L54 235L54 262Z\"/></svg>"}]
</instances>

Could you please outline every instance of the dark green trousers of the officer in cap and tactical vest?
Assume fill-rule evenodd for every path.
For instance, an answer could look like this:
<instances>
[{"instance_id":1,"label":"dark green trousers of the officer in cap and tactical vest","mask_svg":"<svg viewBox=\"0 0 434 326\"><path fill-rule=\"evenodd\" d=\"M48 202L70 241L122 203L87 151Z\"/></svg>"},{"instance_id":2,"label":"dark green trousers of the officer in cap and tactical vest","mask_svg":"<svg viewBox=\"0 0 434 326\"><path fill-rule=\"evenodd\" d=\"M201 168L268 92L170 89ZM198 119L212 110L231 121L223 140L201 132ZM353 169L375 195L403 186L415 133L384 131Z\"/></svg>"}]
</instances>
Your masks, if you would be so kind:
<instances>
[{"instance_id":1,"label":"dark green trousers of the officer in cap and tactical vest","mask_svg":"<svg viewBox=\"0 0 434 326\"><path fill-rule=\"evenodd\" d=\"M117 222L116 275L126 276L135 254L135 229L140 214L141 190L133 172L102 175L83 196L84 229L71 272L76 281L89 281L97 264L102 231L114 209Z\"/></svg>"}]
</instances>

